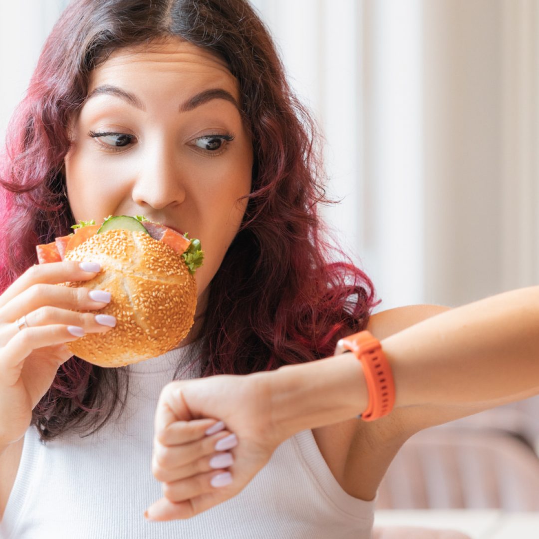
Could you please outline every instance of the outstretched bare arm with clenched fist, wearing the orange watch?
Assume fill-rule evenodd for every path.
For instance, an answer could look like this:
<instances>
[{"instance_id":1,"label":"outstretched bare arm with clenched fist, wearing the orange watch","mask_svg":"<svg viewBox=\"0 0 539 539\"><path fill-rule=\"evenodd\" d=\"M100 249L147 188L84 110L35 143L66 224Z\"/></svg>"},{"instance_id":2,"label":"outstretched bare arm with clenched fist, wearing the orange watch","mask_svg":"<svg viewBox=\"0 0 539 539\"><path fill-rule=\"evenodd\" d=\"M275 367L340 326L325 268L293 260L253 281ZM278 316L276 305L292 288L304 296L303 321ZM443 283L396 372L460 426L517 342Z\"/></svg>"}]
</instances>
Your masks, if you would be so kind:
<instances>
[{"instance_id":1,"label":"outstretched bare arm with clenched fist, wearing the orange watch","mask_svg":"<svg viewBox=\"0 0 539 539\"><path fill-rule=\"evenodd\" d=\"M375 424L387 419L396 431L386 432L400 439L539 393L539 287L492 296L390 333L379 335L389 334L381 342L395 377L396 406ZM367 398L361 363L352 354L167 384L157 405L152 459L164 496L148 509L149 517L186 519L230 499L282 441L354 418ZM202 418L222 420L225 430L206 436L209 420ZM234 446L227 446L232 465L213 469L211 459L225 449L216 441L230 433L236 435ZM216 487L216 474L232 482Z\"/></svg>"}]
</instances>

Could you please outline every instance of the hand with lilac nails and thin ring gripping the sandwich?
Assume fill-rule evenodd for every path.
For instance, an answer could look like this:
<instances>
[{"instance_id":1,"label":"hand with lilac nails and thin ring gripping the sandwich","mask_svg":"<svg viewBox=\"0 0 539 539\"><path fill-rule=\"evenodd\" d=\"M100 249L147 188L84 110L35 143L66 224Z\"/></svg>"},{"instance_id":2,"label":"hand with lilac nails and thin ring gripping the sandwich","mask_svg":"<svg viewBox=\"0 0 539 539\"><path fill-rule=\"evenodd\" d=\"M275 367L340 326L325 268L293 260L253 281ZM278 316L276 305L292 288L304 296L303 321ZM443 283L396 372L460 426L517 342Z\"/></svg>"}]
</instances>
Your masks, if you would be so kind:
<instances>
[{"instance_id":1,"label":"hand with lilac nails and thin ring gripping the sandwich","mask_svg":"<svg viewBox=\"0 0 539 539\"><path fill-rule=\"evenodd\" d=\"M84 267L75 261L34 265L0 295L0 453L24 436L32 410L72 356L65 343L112 329L91 313L75 312L103 308L106 301L93 300L85 287L57 286L99 272Z\"/></svg>"}]
</instances>

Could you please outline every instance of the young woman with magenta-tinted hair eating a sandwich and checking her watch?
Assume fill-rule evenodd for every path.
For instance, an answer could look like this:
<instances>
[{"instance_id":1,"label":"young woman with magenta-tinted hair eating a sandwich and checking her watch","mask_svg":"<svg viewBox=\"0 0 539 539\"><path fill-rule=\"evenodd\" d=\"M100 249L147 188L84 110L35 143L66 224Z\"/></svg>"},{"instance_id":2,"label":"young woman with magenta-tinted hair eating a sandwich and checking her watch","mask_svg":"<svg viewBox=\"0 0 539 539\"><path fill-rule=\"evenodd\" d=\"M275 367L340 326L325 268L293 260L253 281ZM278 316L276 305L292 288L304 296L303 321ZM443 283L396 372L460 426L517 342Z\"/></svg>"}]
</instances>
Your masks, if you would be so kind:
<instances>
[{"instance_id":1,"label":"young woman with magenta-tinted hair eating a sandwich and checking her watch","mask_svg":"<svg viewBox=\"0 0 539 539\"><path fill-rule=\"evenodd\" d=\"M3 537L370 537L411 434L537 392L538 287L370 315L371 281L322 240L316 141L246 1L66 9L0 175ZM37 244L108 215L205 251L188 337L119 369L65 347L110 330L106 291L57 286L99 268L36 265ZM356 417L362 364L331 357L362 330L397 390L375 421Z\"/></svg>"}]
</instances>

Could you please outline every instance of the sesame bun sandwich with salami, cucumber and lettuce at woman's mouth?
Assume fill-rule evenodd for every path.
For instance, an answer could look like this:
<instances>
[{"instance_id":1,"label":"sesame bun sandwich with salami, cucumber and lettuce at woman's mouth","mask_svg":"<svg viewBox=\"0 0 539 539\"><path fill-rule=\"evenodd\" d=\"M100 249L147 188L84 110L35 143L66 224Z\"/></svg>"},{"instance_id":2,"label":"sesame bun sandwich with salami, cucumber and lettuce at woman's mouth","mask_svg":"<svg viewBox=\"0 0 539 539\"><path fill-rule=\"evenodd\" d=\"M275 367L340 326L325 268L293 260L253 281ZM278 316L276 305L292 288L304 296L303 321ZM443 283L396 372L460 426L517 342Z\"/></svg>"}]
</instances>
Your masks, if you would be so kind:
<instances>
[{"instance_id":1,"label":"sesame bun sandwich with salami, cucumber and lettuce at woman's mouth","mask_svg":"<svg viewBox=\"0 0 539 539\"><path fill-rule=\"evenodd\" d=\"M101 272L93 279L60 286L110 292L99 313L115 316L116 326L66 343L70 351L100 367L123 367L176 348L194 323L194 274L204 258L200 241L144 216L109 216L100 225L81 221L72 229L36 247L39 264L99 262Z\"/></svg>"}]
</instances>

